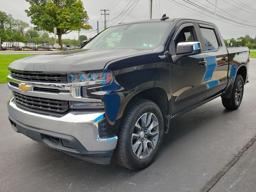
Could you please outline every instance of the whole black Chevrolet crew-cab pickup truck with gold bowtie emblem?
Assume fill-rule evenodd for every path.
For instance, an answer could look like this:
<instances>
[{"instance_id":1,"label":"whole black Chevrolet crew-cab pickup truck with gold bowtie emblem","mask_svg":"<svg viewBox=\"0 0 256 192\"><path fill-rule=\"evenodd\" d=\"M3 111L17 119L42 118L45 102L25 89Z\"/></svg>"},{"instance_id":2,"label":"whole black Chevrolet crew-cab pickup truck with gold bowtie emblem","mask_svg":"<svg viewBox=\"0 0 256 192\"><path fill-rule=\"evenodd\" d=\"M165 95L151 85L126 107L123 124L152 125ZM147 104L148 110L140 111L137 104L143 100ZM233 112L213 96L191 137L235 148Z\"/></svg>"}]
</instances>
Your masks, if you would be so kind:
<instances>
[{"instance_id":1,"label":"whole black Chevrolet crew-cab pickup truck with gold bowtie emblem","mask_svg":"<svg viewBox=\"0 0 256 192\"><path fill-rule=\"evenodd\" d=\"M225 108L240 106L248 56L247 47L226 48L206 21L118 24L79 50L10 64L9 119L16 132L50 148L141 169L173 118L219 96Z\"/></svg>"}]
</instances>

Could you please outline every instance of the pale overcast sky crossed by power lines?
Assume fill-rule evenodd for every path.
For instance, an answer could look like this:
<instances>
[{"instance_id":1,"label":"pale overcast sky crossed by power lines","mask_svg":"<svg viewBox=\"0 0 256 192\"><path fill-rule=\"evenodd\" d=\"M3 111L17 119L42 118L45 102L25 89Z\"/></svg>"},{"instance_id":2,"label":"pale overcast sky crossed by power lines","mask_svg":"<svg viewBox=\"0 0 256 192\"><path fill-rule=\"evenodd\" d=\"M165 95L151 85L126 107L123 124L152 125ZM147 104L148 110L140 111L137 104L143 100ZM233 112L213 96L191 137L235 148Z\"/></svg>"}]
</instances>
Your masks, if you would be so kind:
<instances>
[{"instance_id":1,"label":"pale overcast sky crossed by power lines","mask_svg":"<svg viewBox=\"0 0 256 192\"><path fill-rule=\"evenodd\" d=\"M107 26L115 25L119 22L149 19L149 1L139 0L134 7L135 4L132 5L132 2L136 3L137 0L82 0L89 16L88 24L93 27L93 30L82 30L80 35L86 35L88 38L94 37L97 34L97 20L99 21L99 31L104 29L104 16L101 16L101 9L110 10L109 16L107 17ZM191 4L196 3L202 8L206 8L214 13L215 1L186 0L185 2L185 0L153 0L152 18L161 18L163 14L166 14L170 18L194 18L214 22L214 14L202 11L202 9L196 8ZM129 2L130 4L128 4ZM118 16L126 5L128 5L127 8L132 6L124 15L120 15L122 17ZM15 19L30 23L30 18L24 12L28 7L29 3L25 0L0 0L1 11L12 14ZM217 0L217 7L222 10L217 8L215 24L218 26L224 39L238 38L246 34L252 38L256 36L256 0ZM220 18L218 14L241 24L247 24L247 26L241 26L239 23L234 24L230 20ZM32 24L30 25L33 26ZM78 39L78 32L72 31L69 34L63 35L62 38Z\"/></svg>"}]
</instances>

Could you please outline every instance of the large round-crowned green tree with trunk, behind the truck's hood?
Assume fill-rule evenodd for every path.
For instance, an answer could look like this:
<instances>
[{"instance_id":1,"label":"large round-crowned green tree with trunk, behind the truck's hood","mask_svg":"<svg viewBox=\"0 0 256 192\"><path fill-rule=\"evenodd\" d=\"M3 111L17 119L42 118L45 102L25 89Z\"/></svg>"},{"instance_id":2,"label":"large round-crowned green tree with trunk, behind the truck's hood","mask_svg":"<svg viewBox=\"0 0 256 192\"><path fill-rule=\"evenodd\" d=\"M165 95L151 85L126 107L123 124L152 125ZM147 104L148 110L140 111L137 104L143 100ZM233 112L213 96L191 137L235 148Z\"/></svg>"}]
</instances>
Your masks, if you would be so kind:
<instances>
[{"instance_id":1,"label":"large round-crowned green tree with trunk, behind the truck's hood","mask_svg":"<svg viewBox=\"0 0 256 192\"><path fill-rule=\"evenodd\" d=\"M26 0L30 7L25 10L37 30L53 33L57 28L58 42L61 36L73 30L91 29L88 15L81 0Z\"/></svg>"}]
</instances>

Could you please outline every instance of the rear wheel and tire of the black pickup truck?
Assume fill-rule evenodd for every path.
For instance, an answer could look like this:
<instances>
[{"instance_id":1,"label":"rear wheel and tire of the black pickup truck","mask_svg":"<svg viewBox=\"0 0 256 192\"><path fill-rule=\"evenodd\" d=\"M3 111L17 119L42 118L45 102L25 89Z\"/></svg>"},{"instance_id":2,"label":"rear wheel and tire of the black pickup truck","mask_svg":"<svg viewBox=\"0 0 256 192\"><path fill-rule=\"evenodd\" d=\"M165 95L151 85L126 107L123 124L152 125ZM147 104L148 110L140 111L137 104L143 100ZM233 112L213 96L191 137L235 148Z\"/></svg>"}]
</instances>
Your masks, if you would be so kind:
<instances>
[{"instance_id":1,"label":"rear wheel and tire of the black pickup truck","mask_svg":"<svg viewBox=\"0 0 256 192\"><path fill-rule=\"evenodd\" d=\"M222 98L222 104L227 109L237 109L243 98L244 94L244 79L240 74L236 75L233 85L232 94L230 98Z\"/></svg>"}]
</instances>

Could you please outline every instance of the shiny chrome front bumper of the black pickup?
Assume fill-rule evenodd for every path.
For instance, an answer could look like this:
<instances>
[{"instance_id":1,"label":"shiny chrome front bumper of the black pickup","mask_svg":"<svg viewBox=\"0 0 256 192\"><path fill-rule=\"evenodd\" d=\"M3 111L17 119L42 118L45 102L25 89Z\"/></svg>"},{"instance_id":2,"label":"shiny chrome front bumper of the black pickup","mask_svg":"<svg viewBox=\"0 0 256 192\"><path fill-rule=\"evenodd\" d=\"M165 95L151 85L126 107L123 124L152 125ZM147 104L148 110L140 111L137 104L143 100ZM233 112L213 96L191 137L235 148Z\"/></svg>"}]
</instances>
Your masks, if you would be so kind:
<instances>
[{"instance_id":1,"label":"shiny chrome front bumper of the black pickup","mask_svg":"<svg viewBox=\"0 0 256 192\"><path fill-rule=\"evenodd\" d=\"M88 151L109 151L116 148L117 136L102 139L98 134L98 122L104 118L104 111L71 111L62 116L37 114L16 106L13 97L7 105L9 116L18 122L39 130L73 136Z\"/></svg>"}]
</instances>

